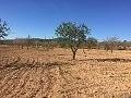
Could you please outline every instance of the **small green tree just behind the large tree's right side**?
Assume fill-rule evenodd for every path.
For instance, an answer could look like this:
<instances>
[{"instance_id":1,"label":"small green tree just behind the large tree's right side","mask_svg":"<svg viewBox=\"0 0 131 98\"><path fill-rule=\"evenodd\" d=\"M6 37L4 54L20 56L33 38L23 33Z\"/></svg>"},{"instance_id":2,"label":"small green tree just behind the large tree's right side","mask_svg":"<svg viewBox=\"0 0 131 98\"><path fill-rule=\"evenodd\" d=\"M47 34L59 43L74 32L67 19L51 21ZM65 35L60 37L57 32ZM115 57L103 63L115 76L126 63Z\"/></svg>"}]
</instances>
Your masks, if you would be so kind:
<instances>
[{"instance_id":1,"label":"small green tree just behind the large tree's right side","mask_svg":"<svg viewBox=\"0 0 131 98\"><path fill-rule=\"evenodd\" d=\"M97 47L97 39L94 37L88 37L86 40L86 46L88 49L96 48Z\"/></svg>"}]
</instances>

